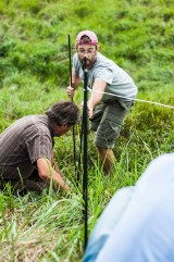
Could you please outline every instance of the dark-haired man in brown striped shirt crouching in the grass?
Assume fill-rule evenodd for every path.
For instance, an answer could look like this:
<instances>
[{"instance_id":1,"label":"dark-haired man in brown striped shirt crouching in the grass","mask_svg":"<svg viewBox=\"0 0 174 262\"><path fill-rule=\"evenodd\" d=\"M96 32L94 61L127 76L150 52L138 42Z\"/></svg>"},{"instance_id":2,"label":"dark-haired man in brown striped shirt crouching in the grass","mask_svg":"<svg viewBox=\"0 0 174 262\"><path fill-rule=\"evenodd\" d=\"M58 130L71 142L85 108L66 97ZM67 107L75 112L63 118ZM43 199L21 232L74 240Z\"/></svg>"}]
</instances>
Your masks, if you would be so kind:
<instances>
[{"instance_id":1,"label":"dark-haired man in brown striped shirt crouching in the grass","mask_svg":"<svg viewBox=\"0 0 174 262\"><path fill-rule=\"evenodd\" d=\"M78 121L78 108L59 101L44 115L24 116L7 128L0 135L1 189L10 183L14 192L41 192L51 182L55 189L70 190L52 163L53 137L66 134Z\"/></svg>"}]
</instances>

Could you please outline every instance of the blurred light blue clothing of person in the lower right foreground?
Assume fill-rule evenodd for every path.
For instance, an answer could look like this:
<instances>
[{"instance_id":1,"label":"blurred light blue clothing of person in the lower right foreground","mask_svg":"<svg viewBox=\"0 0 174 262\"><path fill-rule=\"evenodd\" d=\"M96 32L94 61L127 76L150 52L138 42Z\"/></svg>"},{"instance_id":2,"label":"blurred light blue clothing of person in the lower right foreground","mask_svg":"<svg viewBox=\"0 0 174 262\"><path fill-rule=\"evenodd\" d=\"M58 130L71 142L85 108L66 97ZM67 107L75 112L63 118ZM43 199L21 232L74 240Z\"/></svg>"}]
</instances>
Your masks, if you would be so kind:
<instances>
[{"instance_id":1,"label":"blurred light blue clothing of person in the lower right foreground","mask_svg":"<svg viewBox=\"0 0 174 262\"><path fill-rule=\"evenodd\" d=\"M115 198L115 197L114 197ZM116 198L115 198L116 199ZM122 202L121 202L122 204ZM114 220L120 203L111 201L103 217ZM119 211L120 212L120 211ZM110 219L111 220L111 219ZM104 220L100 225L107 226ZM138 179L130 198L124 203L124 211L110 236L98 247L97 259L92 248L86 250L85 262L171 262L174 261L174 153L158 157ZM95 229L96 230L96 229ZM94 230L94 232L95 232ZM99 244L98 234L92 242ZM90 246L90 239L88 242ZM88 253L90 252L90 257ZM90 259L91 258L91 259ZM95 258L95 257L94 257Z\"/></svg>"}]
</instances>

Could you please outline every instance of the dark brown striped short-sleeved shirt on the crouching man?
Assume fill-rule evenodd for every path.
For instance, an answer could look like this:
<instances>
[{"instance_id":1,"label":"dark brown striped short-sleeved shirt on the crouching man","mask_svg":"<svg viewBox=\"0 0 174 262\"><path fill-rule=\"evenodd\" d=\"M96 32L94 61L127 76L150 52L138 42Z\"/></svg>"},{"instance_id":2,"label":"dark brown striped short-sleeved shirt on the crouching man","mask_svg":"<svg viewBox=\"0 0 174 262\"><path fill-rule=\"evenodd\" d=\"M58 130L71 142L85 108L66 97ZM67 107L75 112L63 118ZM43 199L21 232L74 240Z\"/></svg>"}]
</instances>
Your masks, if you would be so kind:
<instances>
[{"instance_id":1,"label":"dark brown striped short-sleeved shirt on the crouching man","mask_svg":"<svg viewBox=\"0 0 174 262\"><path fill-rule=\"evenodd\" d=\"M27 178L39 158L51 161L53 126L48 115L28 115L14 122L0 135L0 175Z\"/></svg>"}]
</instances>

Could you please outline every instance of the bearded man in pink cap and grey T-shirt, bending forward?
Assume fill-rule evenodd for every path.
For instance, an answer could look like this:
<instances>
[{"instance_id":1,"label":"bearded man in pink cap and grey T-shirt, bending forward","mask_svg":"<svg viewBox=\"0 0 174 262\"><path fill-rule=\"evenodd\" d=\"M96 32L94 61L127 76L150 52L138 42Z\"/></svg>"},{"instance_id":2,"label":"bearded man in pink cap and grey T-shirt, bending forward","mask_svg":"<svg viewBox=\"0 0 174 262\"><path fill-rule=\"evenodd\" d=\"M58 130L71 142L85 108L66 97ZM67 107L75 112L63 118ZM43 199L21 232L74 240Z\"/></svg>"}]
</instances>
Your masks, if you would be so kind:
<instances>
[{"instance_id":1,"label":"bearded man in pink cap and grey T-shirt, bending forward","mask_svg":"<svg viewBox=\"0 0 174 262\"><path fill-rule=\"evenodd\" d=\"M69 97L74 96L76 87L84 79L86 60L88 87L91 89L87 102L90 129L96 132L95 146L103 162L103 171L109 174L115 160L114 144L126 113L133 105L137 87L124 70L98 50L98 38L94 32L84 30L77 35L72 86L69 86L66 91Z\"/></svg>"}]
</instances>

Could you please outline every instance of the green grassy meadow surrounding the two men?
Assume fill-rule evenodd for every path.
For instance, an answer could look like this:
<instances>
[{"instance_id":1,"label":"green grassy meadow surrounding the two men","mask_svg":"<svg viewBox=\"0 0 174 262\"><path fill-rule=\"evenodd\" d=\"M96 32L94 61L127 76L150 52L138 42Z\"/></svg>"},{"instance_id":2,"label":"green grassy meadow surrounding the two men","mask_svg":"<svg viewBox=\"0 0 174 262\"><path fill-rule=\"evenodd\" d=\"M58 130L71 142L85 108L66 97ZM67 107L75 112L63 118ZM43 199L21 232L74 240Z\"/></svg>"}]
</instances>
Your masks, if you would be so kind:
<instances>
[{"instance_id":1,"label":"green grassy meadow surrounding the two men","mask_svg":"<svg viewBox=\"0 0 174 262\"><path fill-rule=\"evenodd\" d=\"M156 157L174 151L174 109L164 107L174 107L173 17L173 0L0 0L0 133L24 115L42 114L57 100L69 100L67 36L73 57L76 35L84 29L98 35L100 52L138 87L140 101L115 144L112 177L102 173L94 134L88 135L89 236L113 194L135 185ZM80 86L74 101L80 105L83 99ZM75 134L78 162L80 126ZM54 148L72 191L25 197L13 197L10 187L0 191L2 262L82 261L83 170L80 164L77 186L72 132L55 138Z\"/></svg>"}]
</instances>

